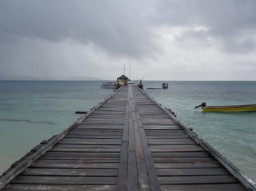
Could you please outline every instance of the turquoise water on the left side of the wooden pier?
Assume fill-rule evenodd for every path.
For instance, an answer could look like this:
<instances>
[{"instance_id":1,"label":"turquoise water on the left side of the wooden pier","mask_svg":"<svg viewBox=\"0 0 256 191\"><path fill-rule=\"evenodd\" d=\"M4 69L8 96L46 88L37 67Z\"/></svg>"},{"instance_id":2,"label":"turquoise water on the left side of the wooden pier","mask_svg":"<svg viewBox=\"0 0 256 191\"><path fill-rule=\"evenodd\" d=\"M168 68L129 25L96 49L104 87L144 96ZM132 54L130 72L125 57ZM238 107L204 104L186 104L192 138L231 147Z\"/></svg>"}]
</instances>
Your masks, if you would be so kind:
<instances>
[{"instance_id":1,"label":"turquoise water on the left side of the wooden pier","mask_svg":"<svg viewBox=\"0 0 256 191\"><path fill-rule=\"evenodd\" d=\"M0 174L113 93L102 82L0 81Z\"/></svg>"}]
</instances>

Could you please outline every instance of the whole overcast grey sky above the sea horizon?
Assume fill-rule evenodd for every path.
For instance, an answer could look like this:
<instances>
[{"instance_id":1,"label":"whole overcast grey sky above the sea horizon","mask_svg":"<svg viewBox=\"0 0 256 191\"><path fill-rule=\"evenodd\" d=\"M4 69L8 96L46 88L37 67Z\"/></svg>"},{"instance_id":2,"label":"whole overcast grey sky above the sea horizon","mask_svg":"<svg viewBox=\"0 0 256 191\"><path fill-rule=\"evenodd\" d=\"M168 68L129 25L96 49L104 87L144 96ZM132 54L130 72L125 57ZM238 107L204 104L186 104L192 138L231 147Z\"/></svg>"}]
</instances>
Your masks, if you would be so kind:
<instances>
[{"instance_id":1,"label":"whole overcast grey sky above the sea horizon","mask_svg":"<svg viewBox=\"0 0 256 191\"><path fill-rule=\"evenodd\" d=\"M256 80L255 0L1 0L0 77Z\"/></svg>"}]
</instances>

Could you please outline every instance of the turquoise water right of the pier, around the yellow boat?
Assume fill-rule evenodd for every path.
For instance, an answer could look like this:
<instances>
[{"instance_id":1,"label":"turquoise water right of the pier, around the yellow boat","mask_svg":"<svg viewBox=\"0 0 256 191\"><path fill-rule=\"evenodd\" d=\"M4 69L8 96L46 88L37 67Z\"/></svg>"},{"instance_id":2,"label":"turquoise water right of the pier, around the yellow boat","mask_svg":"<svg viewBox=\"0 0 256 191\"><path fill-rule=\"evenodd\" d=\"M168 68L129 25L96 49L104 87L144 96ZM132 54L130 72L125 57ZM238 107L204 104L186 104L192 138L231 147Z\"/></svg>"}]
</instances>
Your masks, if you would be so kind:
<instances>
[{"instance_id":1,"label":"turquoise water right of the pier, around the yellow boat","mask_svg":"<svg viewBox=\"0 0 256 191\"><path fill-rule=\"evenodd\" d=\"M202 112L195 106L256 104L256 82L167 82L168 90L147 90L162 87L154 82L145 87L178 120L211 144L249 178L256 182L256 112Z\"/></svg>"}]
</instances>

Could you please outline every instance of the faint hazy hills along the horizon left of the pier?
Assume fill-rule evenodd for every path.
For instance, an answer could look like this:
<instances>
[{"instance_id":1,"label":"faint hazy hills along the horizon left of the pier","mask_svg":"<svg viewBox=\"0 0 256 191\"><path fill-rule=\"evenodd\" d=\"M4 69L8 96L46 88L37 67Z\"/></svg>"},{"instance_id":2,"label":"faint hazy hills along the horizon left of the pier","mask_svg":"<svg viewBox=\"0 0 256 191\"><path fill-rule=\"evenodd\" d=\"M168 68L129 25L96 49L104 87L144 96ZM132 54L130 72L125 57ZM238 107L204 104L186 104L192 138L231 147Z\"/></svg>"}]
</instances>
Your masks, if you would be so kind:
<instances>
[{"instance_id":1,"label":"faint hazy hills along the horizon left of the pier","mask_svg":"<svg viewBox=\"0 0 256 191\"><path fill-rule=\"evenodd\" d=\"M91 80L91 81L102 81L103 79L99 79L96 77L68 77L65 79L53 79L53 78L36 78L36 77L11 77L11 76L2 76L0 75L0 80L30 80L30 81L41 81L41 80L63 80L63 81L85 81L85 80Z\"/></svg>"}]
</instances>

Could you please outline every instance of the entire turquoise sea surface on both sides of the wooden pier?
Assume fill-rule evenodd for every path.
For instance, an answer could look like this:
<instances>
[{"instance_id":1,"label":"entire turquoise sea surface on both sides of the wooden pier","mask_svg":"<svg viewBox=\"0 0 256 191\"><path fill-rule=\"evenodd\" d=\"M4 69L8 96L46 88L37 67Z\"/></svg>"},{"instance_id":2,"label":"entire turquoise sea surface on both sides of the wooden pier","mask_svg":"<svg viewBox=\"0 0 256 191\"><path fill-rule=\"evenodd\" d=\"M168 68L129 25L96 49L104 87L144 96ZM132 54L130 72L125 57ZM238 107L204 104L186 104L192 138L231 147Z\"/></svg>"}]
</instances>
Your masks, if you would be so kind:
<instances>
[{"instance_id":1,"label":"entire turquoise sea surface on both sides of the wooden pier","mask_svg":"<svg viewBox=\"0 0 256 191\"><path fill-rule=\"evenodd\" d=\"M195 106L256 104L256 82L144 82L188 128L256 182L256 112L202 112ZM101 81L0 81L0 174L41 141L61 133L113 90Z\"/></svg>"}]
</instances>

